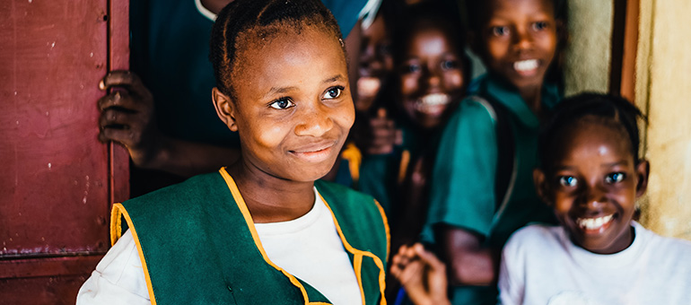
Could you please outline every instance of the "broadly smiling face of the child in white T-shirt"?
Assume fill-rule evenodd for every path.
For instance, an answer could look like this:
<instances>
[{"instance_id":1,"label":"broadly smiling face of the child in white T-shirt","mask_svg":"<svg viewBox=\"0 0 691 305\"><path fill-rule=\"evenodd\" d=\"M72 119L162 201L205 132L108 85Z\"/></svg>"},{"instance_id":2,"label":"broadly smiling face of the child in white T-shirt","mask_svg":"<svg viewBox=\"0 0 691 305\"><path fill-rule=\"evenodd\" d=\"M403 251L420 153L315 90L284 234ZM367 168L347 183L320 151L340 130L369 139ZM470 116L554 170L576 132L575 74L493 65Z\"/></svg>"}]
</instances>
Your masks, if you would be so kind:
<instances>
[{"instance_id":1,"label":"broadly smiling face of the child in white T-shirt","mask_svg":"<svg viewBox=\"0 0 691 305\"><path fill-rule=\"evenodd\" d=\"M573 242L590 252L617 253L634 240L635 199L647 186L647 161L634 163L623 127L580 119L555 141L549 172L536 170L538 193L555 209Z\"/></svg>"}]
</instances>

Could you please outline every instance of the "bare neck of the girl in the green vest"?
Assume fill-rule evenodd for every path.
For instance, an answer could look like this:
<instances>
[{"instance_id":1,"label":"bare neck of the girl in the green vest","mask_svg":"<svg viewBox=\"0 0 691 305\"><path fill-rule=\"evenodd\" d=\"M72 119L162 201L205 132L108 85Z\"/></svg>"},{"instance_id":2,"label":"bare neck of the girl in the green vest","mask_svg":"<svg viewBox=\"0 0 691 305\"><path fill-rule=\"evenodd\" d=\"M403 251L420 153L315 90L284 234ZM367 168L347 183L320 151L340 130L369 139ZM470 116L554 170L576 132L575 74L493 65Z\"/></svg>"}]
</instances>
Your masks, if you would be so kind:
<instances>
[{"instance_id":1,"label":"bare neck of the girl in the green vest","mask_svg":"<svg viewBox=\"0 0 691 305\"><path fill-rule=\"evenodd\" d=\"M314 181L280 179L242 158L227 170L256 223L291 221L310 212L314 205Z\"/></svg>"}]
</instances>

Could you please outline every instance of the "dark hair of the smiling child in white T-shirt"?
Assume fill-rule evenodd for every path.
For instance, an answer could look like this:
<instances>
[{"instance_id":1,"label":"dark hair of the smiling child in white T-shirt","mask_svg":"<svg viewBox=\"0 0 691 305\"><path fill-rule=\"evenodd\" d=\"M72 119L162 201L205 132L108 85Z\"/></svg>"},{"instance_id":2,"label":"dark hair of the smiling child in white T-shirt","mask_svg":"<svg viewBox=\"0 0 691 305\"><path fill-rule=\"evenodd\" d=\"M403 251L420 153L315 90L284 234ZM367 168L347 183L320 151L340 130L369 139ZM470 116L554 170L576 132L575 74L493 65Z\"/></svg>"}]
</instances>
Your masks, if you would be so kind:
<instances>
[{"instance_id":1,"label":"dark hair of the smiling child in white T-shirt","mask_svg":"<svg viewBox=\"0 0 691 305\"><path fill-rule=\"evenodd\" d=\"M556 145L564 137L564 131L584 118L594 118L605 124L618 128L623 138L628 139L634 163L638 164L638 150L641 144L637 119L647 123L641 110L628 100L614 95L601 93L581 93L562 100L552 111L538 136L538 157L543 170L549 166L549 158L554 155Z\"/></svg>"}]
</instances>

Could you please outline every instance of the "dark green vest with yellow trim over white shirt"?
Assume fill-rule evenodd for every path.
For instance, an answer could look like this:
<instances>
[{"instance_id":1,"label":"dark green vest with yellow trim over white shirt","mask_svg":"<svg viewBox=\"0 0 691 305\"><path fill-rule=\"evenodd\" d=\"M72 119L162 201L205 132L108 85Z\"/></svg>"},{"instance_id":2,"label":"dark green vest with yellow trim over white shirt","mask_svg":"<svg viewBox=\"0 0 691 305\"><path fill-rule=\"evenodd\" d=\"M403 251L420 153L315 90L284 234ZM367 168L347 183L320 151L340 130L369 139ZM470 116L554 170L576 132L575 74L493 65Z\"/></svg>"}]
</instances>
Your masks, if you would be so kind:
<instances>
[{"instance_id":1,"label":"dark green vest with yellow trim over white shirt","mask_svg":"<svg viewBox=\"0 0 691 305\"><path fill-rule=\"evenodd\" d=\"M238 187L219 172L113 205L111 241L132 232L152 303L329 304L268 259ZM389 226L380 205L337 184L314 185L334 216L363 303L386 304Z\"/></svg>"}]
</instances>

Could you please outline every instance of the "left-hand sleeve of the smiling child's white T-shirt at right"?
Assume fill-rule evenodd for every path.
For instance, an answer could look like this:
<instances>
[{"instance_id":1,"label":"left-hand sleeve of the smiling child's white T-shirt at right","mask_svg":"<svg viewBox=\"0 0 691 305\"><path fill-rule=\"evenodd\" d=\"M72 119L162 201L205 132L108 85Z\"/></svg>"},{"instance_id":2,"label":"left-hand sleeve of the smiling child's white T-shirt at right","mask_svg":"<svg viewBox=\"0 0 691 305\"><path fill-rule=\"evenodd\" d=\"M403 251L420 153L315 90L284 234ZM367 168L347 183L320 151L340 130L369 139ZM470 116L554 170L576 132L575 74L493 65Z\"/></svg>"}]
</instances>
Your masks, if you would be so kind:
<instances>
[{"instance_id":1,"label":"left-hand sleeve of the smiling child's white T-shirt at right","mask_svg":"<svg viewBox=\"0 0 691 305\"><path fill-rule=\"evenodd\" d=\"M514 242L506 243L502 251L502 262L499 267L499 303L502 305L518 305L523 303L523 293L525 288L525 283L523 279L525 278L521 272L523 266L517 266L522 264L516 264L517 259L515 257L517 247L514 247L516 240Z\"/></svg>"}]
</instances>

